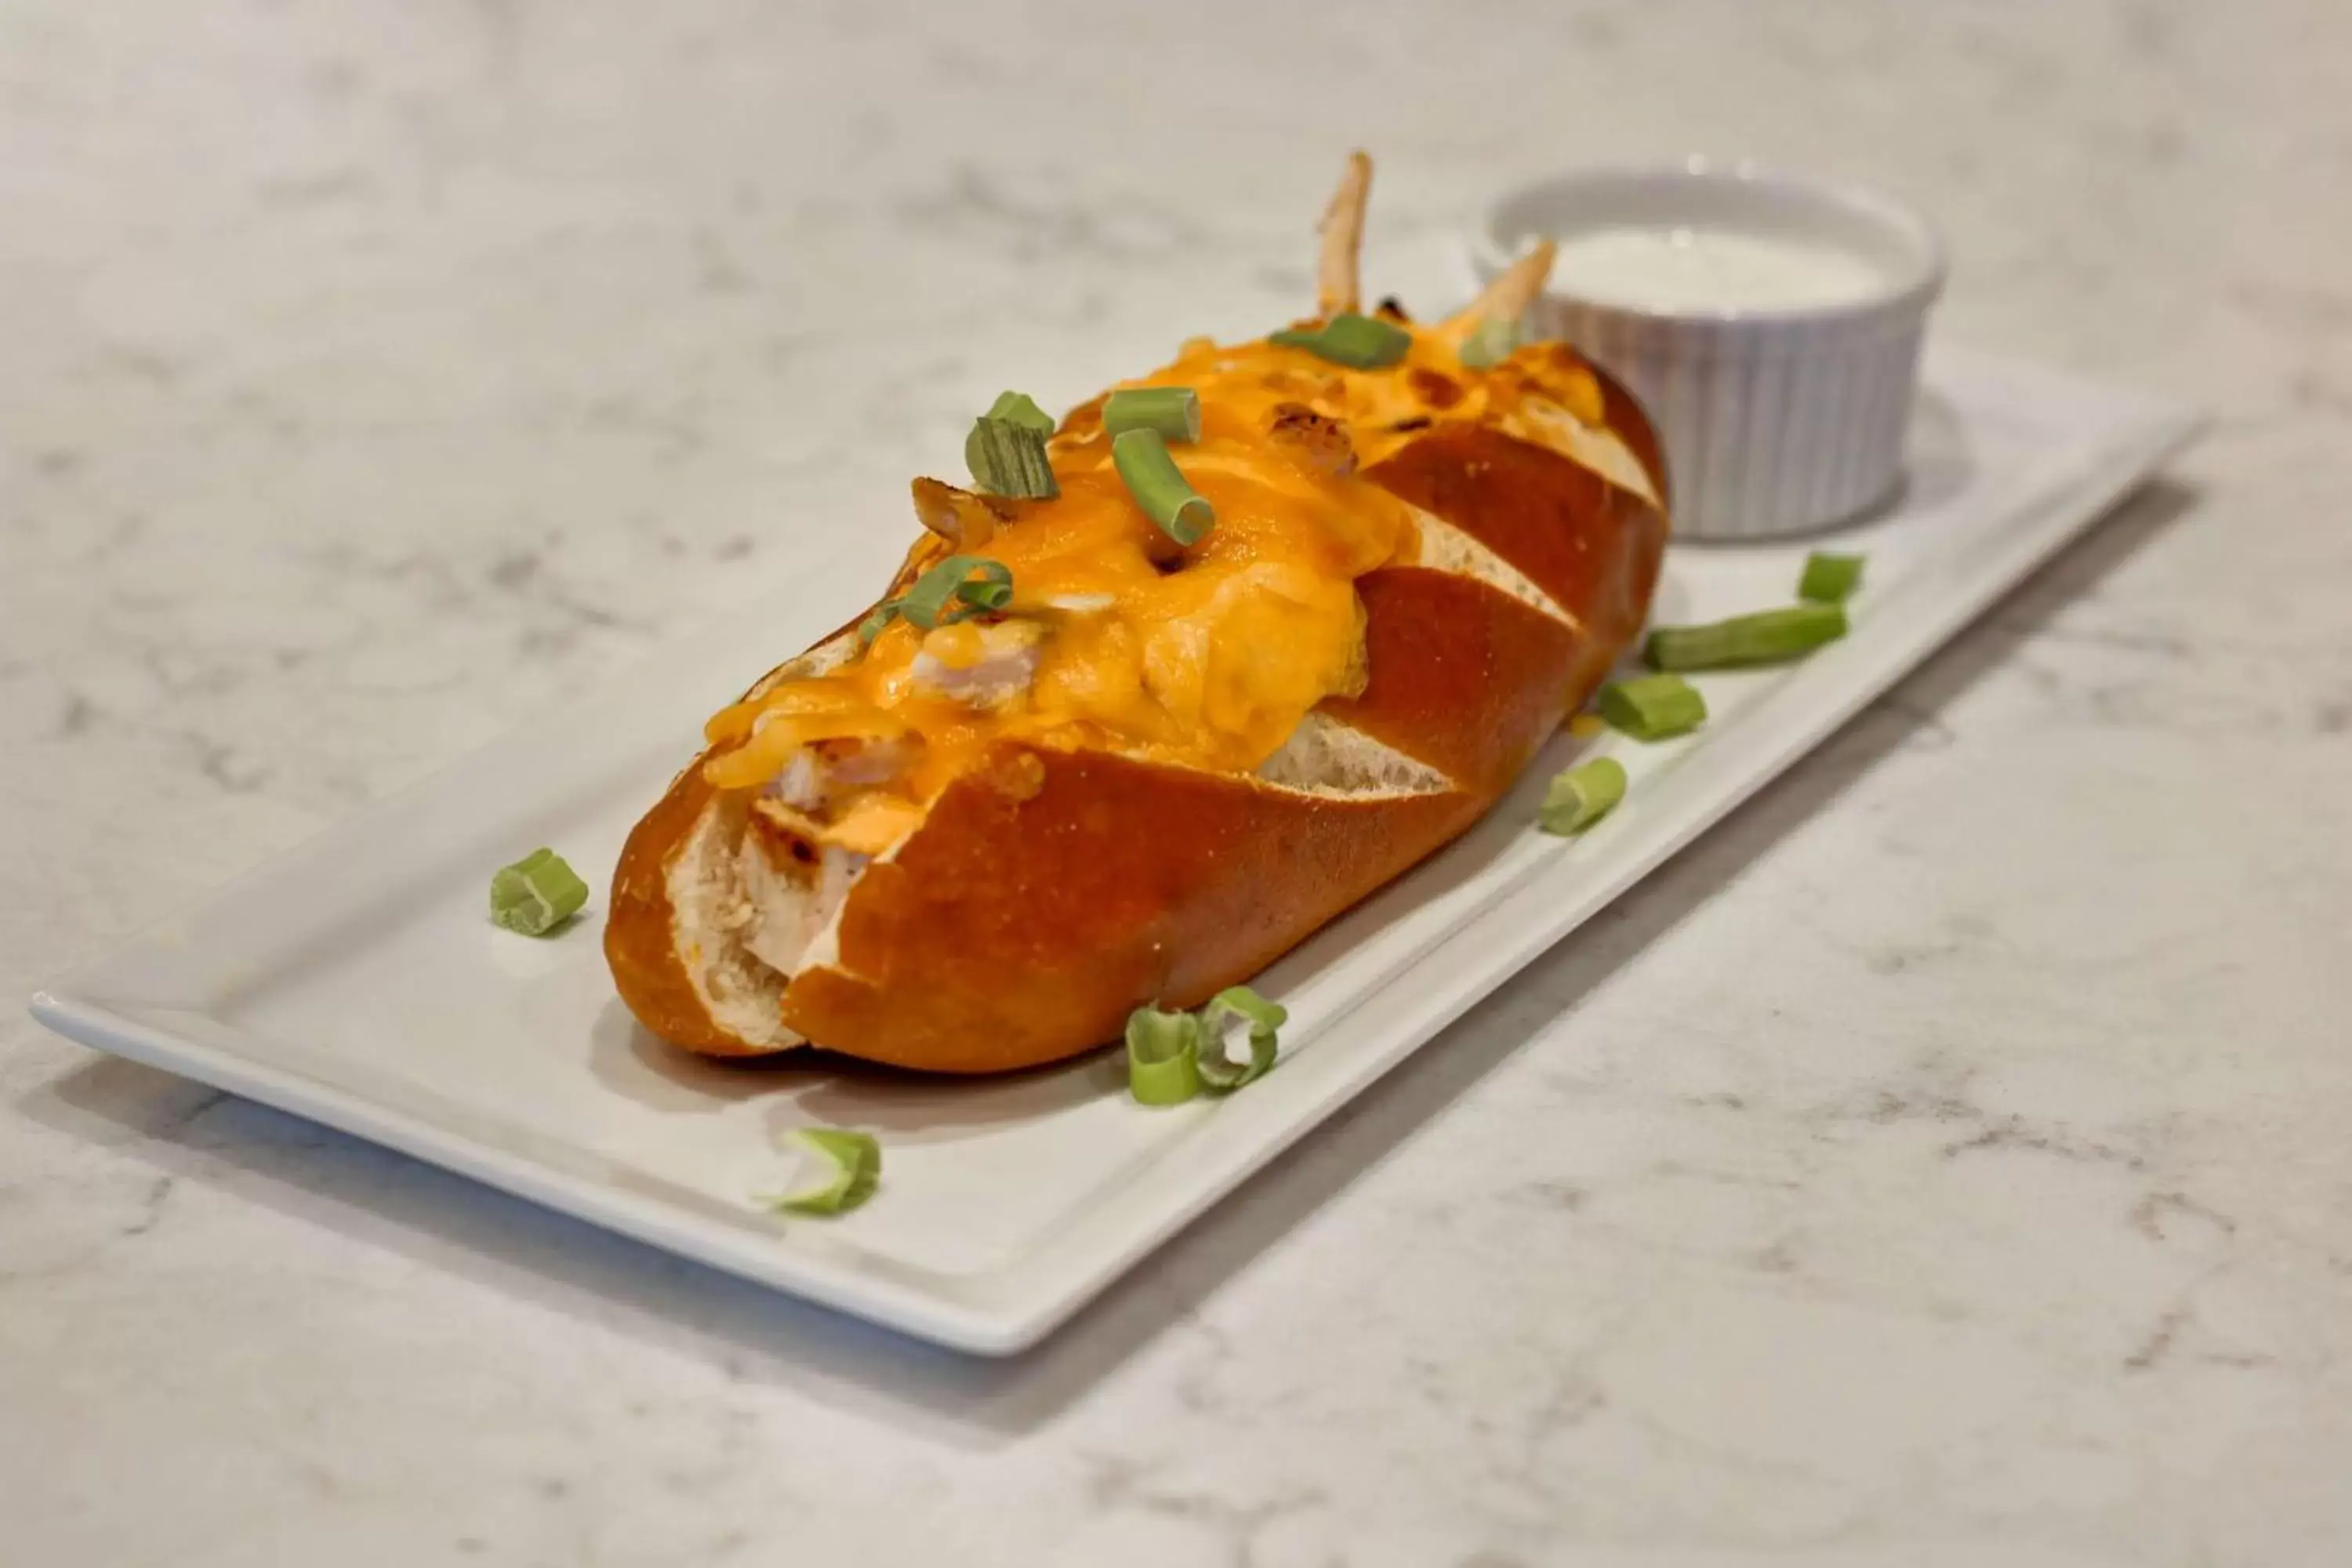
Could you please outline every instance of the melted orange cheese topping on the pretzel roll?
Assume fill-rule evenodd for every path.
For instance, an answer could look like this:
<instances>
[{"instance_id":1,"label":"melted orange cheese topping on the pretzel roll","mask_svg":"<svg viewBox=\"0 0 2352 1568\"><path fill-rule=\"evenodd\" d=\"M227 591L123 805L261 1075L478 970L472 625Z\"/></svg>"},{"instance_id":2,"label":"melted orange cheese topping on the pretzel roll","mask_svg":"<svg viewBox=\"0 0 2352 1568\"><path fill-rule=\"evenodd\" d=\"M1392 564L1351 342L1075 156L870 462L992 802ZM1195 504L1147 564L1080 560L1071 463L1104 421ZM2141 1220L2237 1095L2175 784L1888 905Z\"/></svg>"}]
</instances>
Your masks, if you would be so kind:
<instances>
[{"instance_id":1,"label":"melted orange cheese topping on the pretzel roll","mask_svg":"<svg viewBox=\"0 0 2352 1568\"><path fill-rule=\"evenodd\" d=\"M828 804L828 837L870 853L1000 741L1251 771L1317 703L1362 689L1355 578L1411 559L1414 510L1362 470L1430 423L1512 428L1531 397L1599 423L1599 390L1566 350L1529 348L1470 371L1437 331L1374 371L1195 339L1129 386L1197 390L1200 442L1171 454L1216 508L1207 538L1178 557L1112 468L1101 404L1084 404L1049 442L1061 496L1021 503L967 550L1011 569L1002 616L929 632L894 621L840 668L720 712L708 778L764 785L816 741L913 743L901 773ZM1338 421L1352 465L1334 463L1329 444L1279 440L1284 404ZM927 545L924 564L948 552ZM990 684L993 668L1002 682Z\"/></svg>"}]
</instances>

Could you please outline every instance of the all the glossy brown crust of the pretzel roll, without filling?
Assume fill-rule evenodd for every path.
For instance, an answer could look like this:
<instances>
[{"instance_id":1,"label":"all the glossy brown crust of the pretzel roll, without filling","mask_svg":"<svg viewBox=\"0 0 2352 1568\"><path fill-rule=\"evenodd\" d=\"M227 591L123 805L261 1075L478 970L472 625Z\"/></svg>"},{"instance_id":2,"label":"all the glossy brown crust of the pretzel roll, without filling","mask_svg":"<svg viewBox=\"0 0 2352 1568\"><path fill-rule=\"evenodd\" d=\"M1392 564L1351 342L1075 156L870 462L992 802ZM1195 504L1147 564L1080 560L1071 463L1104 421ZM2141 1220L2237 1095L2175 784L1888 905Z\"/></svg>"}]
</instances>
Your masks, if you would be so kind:
<instances>
[{"instance_id":1,"label":"all the glossy brown crust of the pretzel roll, without filling","mask_svg":"<svg viewBox=\"0 0 2352 1568\"><path fill-rule=\"evenodd\" d=\"M1649 421L1599 381L1609 428L1665 496ZM1479 425L1437 425L1364 477L1470 534L1573 621L1423 567L1357 581L1371 679L1322 712L1461 788L1310 797L1051 750L1035 752L1042 788L1037 769L1018 790L1002 785L1002 766L978 769L931 804L894 858L863 872L837 966L786 987L783 1025L934 1072L1058 1060L1115 1039L1143 1001L1195 1006L1254 976L1477 820L1637 635L1665 515L1581 463ZM901 585L938 550L931 536L917 541ZM757 1053L710 1020L675 952L668 867L713 799L701 762L630 835L604 950L623 1001L656 1034Z\"/></svg>"}]
</instances>

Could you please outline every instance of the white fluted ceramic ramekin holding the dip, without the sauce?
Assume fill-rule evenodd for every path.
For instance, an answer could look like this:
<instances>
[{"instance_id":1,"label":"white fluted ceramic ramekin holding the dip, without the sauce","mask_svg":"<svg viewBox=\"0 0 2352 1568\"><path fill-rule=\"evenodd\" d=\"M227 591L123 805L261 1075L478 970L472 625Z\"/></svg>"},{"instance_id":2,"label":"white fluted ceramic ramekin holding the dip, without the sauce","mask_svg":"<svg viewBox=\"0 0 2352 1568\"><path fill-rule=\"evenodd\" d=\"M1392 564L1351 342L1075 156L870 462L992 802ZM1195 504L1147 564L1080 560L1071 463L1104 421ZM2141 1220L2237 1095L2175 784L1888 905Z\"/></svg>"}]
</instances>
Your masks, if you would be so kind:
<instances>
[{"instance_id":1,"label":"white fluted ceramic ramekin holding the dip, without the sauce","mask_svg":"<svg viewBox=\"0 0 2352 1568\"><path fill-rule=\"evenodd\" d=\"M1919 336L1943 244L1872 190L1691 158L1583 169L1498 197L1470 240L1491 280L1538 235L1726 226L1849 249L1884 284L1806 310L1639 310L1555 280L1531 324L1616 374L1658 428L1682 538L1769 538L1844 522L1903 480Z\"/></svg>"}]
</instances>

